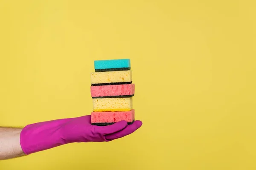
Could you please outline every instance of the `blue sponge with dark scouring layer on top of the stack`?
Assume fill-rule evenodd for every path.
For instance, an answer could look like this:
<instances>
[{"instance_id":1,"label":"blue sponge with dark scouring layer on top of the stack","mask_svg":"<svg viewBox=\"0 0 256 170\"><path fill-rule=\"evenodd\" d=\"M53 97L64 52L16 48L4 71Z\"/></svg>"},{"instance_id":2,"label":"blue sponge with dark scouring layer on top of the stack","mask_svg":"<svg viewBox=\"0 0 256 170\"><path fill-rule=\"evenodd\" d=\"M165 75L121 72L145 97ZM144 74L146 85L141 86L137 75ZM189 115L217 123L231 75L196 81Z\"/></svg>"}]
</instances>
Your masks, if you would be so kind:
<instances>
[{"instance_id":1,"label":"blue sponge with dark scouring layer on top of the stack","mask_svg":"<svg viewBox=\"0 0 256 170\"><path fill-rule=\"evenodd\" d=\"M95 72L131 70L130 59L109 59L94 61Z\"/></svg>"}]
</instances>

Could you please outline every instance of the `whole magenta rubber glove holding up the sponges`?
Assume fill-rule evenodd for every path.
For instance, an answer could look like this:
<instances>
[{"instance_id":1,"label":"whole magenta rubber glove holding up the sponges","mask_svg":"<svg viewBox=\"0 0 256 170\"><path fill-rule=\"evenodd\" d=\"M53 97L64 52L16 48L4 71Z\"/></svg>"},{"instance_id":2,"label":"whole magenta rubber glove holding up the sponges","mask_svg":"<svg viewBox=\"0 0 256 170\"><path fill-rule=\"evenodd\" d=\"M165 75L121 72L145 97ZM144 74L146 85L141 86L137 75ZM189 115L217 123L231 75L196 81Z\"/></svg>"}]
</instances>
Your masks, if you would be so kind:
<instances>
[{"instance_id":1,"label":"whole magenta rubber glove holding up the sponges","mask_svg":"<svg viewBox=\"0 0 256 170\"><path fill-rule=\"evenodd\" d=\"M132 125L120 121L113 125L95 126L91 125L90 115L39 122L23 128L20 145L28 155L72 142L109 142L133 133L141 125L142 122L137 120Z\"/></svg>"}]
</instances>

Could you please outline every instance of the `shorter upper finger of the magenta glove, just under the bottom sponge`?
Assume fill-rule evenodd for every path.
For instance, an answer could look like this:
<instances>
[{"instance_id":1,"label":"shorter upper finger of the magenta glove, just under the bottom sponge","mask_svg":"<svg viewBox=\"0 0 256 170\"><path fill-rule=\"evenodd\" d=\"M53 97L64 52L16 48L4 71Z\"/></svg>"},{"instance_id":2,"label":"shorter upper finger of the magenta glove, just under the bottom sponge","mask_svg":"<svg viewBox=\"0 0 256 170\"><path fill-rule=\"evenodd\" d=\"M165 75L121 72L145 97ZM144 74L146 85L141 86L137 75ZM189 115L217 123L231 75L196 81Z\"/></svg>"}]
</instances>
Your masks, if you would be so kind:
<instances>
[{"instance_id":1,"label":"shorter upper finger of the magenta glove, just under the bottom sponge","mask_svg":"<svg viewBox=\"0 0 256 170\"><path fill-rule=\"evenodd\" d=\"M113 125L98 126L97 130L102 135L107 135L107 134L118 132L118 131L122 130L123 128L125 128L126 126L127 126L127 122L125 120L122 120L122 121L114 123Z\"/></svg>"}]
</instances>

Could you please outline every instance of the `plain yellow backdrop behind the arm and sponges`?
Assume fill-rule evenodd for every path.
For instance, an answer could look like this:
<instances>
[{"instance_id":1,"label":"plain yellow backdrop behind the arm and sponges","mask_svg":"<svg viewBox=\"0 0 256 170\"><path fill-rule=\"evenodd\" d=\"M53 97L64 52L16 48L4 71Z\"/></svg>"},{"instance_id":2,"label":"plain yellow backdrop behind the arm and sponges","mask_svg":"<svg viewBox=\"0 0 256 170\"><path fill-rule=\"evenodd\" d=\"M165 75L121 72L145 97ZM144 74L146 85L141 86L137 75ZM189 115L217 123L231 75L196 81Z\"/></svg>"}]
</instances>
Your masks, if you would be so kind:
<instances>
[{"instance_id":1,"label":"plain yellow backdrop behind the arm and sponges","mask_svg":"<svg viewBox=\"0 0 256 170\"><path fill-rule=\"evenodd\" d=\"M131 59L143 126L0 170L255 170L253 0L0 0L0 125L90 114L93 61Z\"/></svg>"}]
</instances>

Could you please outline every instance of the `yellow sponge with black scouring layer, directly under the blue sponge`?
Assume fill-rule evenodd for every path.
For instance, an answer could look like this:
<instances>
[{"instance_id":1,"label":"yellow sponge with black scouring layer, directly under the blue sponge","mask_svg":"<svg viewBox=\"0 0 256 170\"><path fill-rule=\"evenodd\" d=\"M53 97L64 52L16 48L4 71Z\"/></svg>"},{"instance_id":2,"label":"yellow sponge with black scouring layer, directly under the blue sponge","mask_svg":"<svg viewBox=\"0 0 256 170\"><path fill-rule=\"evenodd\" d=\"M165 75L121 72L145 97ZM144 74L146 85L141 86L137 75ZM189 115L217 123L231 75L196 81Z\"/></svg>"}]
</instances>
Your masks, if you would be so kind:
<instances>
[{"instance_id":1,"label":"yellow sponge with black scouring layer, directly under the blue sponge","mask_svg":"<svg viewBox=\"0 0 256 170\"><path fill-rule=\"evenodd\" d=\"M92 85L131 84L132 73L127 71L105 71L91 73Z\"/></svg>"}]
</instances>

